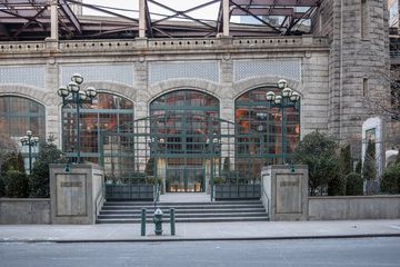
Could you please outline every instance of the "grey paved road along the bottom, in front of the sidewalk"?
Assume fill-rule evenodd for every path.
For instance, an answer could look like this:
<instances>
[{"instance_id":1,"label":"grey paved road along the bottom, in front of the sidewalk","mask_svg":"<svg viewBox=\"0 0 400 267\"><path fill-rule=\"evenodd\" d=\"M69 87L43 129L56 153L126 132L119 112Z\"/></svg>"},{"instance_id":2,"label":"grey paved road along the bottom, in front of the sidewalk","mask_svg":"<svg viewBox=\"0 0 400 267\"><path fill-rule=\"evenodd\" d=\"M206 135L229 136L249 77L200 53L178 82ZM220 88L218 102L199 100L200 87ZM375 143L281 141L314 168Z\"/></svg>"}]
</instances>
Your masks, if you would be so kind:
<instances>
[{"instance_id":1,"label":"grey paved road along the bottom, in front of the sidewalk","mask_svg":"<svg viewBox=\"0 0 400 267\"><path fill-rule=\"evenodd\" d=\"M400 238L172 243L2 243L1 267L400 265Z\"/></svg>"}]
</instances>

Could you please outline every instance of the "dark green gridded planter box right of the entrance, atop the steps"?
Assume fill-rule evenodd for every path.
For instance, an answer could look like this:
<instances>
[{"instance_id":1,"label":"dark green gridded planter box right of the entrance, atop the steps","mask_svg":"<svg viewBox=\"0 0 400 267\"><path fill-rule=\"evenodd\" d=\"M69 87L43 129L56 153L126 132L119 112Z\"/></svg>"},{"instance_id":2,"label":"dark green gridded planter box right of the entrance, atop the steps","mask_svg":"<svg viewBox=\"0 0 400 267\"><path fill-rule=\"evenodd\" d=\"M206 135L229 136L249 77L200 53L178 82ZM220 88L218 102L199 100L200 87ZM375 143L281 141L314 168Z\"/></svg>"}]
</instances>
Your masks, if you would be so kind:
<instances>
[{"instance_id":1,"label":"dark green gridded planter box right of the entrance, atop the steps","mask_svg":"<svg viewBox=\"0 0 400 267\"><path fill-rule=\"evenodd\" d=\"M260 185L214 185L214 199L260 199Z\"/></svg>"}]
</instances>

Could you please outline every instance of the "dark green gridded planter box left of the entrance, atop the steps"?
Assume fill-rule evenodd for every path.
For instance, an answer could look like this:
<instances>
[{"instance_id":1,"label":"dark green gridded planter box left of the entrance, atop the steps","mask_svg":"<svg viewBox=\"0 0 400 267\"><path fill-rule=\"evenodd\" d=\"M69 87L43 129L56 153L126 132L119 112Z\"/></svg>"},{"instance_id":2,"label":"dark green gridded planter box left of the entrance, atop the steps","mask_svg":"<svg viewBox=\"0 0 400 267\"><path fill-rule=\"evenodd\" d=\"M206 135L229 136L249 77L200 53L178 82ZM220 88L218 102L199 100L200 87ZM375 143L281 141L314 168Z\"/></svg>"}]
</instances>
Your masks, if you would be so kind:
<instances>
[{"instance_id":1,"label":"dark green gridded planter box left of the entrance, atop the steps","mask_svg":"<svg viewBox=\"0 0 400 267\"><path fill-rule=\"evenodd\" d=\"M153 201L154 190L153 185L106 185L106 199Z\"/></svg>"}]
</instances>

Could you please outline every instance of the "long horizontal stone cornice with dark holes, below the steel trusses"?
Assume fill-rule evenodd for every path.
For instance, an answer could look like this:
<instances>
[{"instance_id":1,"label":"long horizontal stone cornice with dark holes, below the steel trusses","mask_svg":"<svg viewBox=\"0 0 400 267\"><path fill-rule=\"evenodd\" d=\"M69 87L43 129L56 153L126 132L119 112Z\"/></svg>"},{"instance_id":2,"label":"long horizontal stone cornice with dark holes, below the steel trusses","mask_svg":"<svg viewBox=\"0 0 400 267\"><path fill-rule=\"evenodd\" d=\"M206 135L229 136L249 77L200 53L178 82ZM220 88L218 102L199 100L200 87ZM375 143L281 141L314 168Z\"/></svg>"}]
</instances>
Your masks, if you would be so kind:
<instances>
[{"instance_id":1,"label":"long horizontal stone cornice with dark holes, below the steel trusses","mask_svg":"<svg viewBox=\"0 0 400 267\"><path fill-rule=\"evenodd\" d=\"M133 39L133 40L44 40L36 42L0 42L0 58L9 57L74 57L177 53L240 53L284 51L329 51L327 37L270 38L199 38L199 39Z\"/></svg>"}]
</instances>

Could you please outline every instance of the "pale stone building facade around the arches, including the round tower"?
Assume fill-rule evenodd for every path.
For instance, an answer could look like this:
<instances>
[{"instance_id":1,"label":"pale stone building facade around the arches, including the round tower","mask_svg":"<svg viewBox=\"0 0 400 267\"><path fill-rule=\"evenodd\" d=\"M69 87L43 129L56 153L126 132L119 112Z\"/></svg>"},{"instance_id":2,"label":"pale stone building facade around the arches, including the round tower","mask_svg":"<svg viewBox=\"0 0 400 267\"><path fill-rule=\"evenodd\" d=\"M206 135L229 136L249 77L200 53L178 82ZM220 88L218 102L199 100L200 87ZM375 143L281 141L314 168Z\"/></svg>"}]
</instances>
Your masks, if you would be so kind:
<instances>
[{"instance_id":1,"label":"pale stone building facade around the arches, including the round tower","mask_svg":"<svg viewBox=\"0 0 400 267\"><path fill-rule=\"evenodd\" d=\"M233 122L240 96L286 79L301 96L300 137L319 129L360 140L362 122L381 115L373 102L389 101L388 29L387 1L330 0L310 36L1 42L0 97L42 105L46 136L62 147L57 90L74 72L84 87L132 101L134 119L168 92L194 90L217 98L220 119Z\"/></svg>"}]
</instances>

